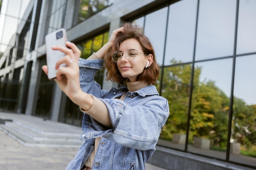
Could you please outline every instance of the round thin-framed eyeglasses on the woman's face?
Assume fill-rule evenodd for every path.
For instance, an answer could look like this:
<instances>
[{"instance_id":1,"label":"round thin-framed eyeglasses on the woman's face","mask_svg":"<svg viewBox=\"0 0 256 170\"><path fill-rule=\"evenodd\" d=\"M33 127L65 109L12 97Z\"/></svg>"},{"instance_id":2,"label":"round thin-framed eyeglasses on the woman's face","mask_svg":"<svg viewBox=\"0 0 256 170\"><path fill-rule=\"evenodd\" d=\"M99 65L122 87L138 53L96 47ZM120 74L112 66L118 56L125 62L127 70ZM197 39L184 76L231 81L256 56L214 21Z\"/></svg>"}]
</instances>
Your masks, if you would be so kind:
<instances>
[{"instance_id":1,"label":"round thin-framed eyeglasses on the woman's face","mask_svg":"<svg viewBox=\"0 0 256 170\"><path fill-rule=\"evenodd\" d=\"M137 53L146 55L144 53L139 53L135 50L127 50L126 52L116 51L111 56L112 56L113 62L119 62L123 56L125 56L127 60L132 61L135 58Z\"/></svg>"}]
</instances>

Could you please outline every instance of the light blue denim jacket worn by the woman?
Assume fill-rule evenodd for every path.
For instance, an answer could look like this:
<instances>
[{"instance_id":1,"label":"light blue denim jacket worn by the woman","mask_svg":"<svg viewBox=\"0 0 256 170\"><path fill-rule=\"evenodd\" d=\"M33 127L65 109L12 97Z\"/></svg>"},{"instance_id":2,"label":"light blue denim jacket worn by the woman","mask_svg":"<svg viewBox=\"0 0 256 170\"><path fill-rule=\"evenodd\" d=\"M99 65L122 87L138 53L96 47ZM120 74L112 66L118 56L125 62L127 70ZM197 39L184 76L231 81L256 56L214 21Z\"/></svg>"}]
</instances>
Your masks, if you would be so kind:
<instances>
[{"instance_id":1,"label":"light blue denim jacket worn by the woman","mask_svg":"<svg viewBox=\"0 0 256 170\"><path fill-rule=\"evenodd\" d=\"M145 162L155 151L161 128L169 116L168 101L159 96L156 87L146 86L135 92L126 87L101 90L94 75L103 67L103 60L79 59L80 84L83 91L98 97L108 108L112 129L90 115L82 121L85 139L66 170L81 170L94 148L94 139L101 137L92 170L145 170ZM115 99L124 93L124 101Z\"/></svg>"}]
</instances>

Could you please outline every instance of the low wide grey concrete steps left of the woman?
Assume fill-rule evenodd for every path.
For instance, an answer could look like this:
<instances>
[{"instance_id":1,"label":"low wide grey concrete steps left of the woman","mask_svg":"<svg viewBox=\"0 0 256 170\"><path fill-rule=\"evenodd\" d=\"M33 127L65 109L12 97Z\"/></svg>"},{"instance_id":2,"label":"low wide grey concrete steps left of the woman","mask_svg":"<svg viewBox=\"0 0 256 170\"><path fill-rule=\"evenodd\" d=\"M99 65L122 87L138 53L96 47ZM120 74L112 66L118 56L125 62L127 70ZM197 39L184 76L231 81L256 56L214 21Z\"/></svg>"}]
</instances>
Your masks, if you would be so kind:
<instances>
[{"instance_id":1,"label":"low wide grey concrete steps left of the woman","mask_svg":"<svg viewBox=\"0 0 256 170\"><path fill-rule=\"evenodd\" d=\"M79 148L82 128L22 114L2 113L0 130L26 147Z\"/></svg>"}]
</instances>

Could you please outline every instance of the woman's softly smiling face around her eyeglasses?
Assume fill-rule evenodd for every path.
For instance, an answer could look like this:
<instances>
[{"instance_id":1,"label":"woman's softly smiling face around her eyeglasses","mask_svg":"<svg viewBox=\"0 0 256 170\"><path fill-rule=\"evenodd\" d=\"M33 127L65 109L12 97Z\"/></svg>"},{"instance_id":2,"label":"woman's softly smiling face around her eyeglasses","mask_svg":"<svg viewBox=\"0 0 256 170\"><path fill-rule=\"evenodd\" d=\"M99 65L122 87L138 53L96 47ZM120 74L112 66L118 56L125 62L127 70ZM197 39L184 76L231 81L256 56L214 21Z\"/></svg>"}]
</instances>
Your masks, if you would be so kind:
<instances>
[{"instance_id":1,"label":"woman's softly smiling face around her eyeglasses","mask_svg":"<svg viewBox=\"0 0 256 170\"><path fill-rule=\"evenodd\" d=\"M132 61L127 60L127 55L125 52L127 50L135 50L136 53L135 58ZM143 53L141 45L136 39L128 39L122 42L119 46L120 52L124 52L124 56L121 57L121 60L117 62L118 70L121 75L125 78L128 78L130 82L135 82L136 77L144 70L147 62L148 56Z\"/></svg>"}]
</instances>

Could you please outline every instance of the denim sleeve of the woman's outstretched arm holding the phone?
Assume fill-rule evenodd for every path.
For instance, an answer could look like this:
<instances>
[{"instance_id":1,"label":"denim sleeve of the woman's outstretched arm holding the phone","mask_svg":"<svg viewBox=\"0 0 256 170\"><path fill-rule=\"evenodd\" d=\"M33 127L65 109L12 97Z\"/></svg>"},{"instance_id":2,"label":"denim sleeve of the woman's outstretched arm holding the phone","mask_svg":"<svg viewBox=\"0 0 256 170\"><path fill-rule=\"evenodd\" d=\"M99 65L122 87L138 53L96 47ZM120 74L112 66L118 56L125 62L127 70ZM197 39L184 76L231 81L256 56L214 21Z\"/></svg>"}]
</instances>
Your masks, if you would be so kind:
<instances>
[{"instance_id":1,"label":"denim sleeve of the woman's outstretched arm holding the phone","mask_svg":"<svg viewBox=\"0 0 256 170\"><path fill-rule=\"evenodd\" d=\"M143 105L128 106L119 99L101 99L107 106L112 129L93 119L83 124L84 138L105 137L138 150L154 149L168 116L168 102L157 95L144 97Z\"/></svg>"}]
</instances>

